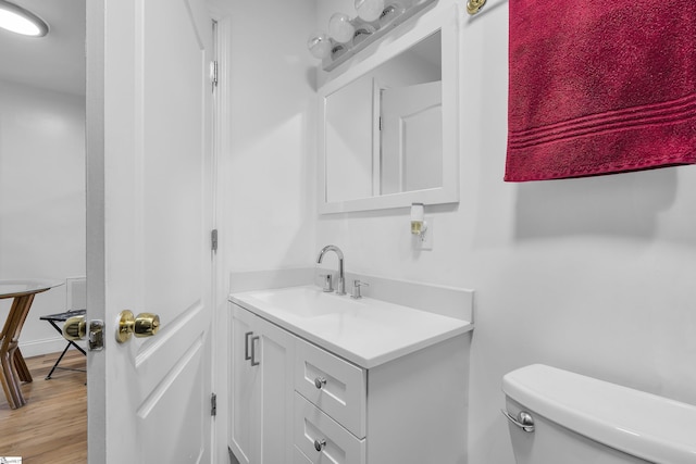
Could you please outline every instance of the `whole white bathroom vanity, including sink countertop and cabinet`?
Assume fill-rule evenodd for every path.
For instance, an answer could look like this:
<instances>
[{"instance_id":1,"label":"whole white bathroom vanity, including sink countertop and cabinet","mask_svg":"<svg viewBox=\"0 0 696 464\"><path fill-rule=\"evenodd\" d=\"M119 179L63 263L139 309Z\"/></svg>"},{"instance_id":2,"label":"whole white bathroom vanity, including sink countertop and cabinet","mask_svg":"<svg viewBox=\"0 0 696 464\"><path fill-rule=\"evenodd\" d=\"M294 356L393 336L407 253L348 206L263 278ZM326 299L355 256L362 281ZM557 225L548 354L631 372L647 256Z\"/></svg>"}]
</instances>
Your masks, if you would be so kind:
<instances>
[{"instance_id":1,"label":"whole white bathroom vanity, including sink countertop and cabinet","mask_svg":"<svg viewBox=\"0 0 696 464\"><path fill-rule=\"evenodd\" d=\"M464 462L471 323L315 287L229 302L240 463Z\"/></svg>"}]
</instances>

